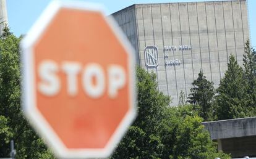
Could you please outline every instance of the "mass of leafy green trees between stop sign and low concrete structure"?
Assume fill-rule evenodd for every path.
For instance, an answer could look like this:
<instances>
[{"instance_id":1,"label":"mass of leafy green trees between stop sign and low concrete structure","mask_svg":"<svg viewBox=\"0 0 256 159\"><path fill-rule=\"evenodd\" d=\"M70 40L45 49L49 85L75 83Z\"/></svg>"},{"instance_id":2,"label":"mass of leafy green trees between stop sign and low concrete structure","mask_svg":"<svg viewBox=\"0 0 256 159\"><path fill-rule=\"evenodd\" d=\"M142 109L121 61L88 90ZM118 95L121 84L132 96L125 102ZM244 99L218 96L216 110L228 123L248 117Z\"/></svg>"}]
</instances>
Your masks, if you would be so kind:
<instances>
[{"instance_id":1,"label":"mass of leafy green trees between stop sign and low concrete structure","mask_svg":"<svg viewBox=\"0 0 256 159\"><path fill-rule=\"evenodd\" d=\"M168 107L156 76L137 68L138 117L111 158L230 158L218 153L194 105Z\"/></svg>"}]
</instances>

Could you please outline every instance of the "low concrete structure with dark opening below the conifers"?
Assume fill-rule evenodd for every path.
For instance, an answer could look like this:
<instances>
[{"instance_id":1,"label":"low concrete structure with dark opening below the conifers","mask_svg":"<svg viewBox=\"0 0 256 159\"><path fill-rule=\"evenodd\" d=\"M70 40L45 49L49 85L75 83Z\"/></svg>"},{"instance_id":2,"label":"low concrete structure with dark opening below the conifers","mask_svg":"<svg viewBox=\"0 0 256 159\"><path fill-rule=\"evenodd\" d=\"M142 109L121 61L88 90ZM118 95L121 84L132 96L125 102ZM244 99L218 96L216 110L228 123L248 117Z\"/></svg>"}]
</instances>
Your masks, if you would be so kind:
<instances>
[{"instance_id":1,"label":"low concrete structure with dark opening below the conifers","mask_svg":"<svg viewBox=\"0 0 256 159\"><path fill-rule=\"evenodd\" d=\"M218 150L233 158L256 157L256 117L202 123L218 142Z\"/></svg>"}]
</instances>

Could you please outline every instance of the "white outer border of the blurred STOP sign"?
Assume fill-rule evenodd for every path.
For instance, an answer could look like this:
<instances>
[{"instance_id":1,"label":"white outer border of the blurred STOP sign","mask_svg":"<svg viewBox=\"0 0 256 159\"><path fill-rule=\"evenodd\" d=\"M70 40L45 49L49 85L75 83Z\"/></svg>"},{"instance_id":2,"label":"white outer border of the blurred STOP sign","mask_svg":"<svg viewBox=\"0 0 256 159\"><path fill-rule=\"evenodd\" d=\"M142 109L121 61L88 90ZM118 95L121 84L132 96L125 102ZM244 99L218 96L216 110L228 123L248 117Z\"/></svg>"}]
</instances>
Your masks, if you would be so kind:
<instances>
[{"instance_id":1,"label":"white outer border of the blurred STOP sign","mask_svg":"<svg viewBox=\"0 0 256 159\"><path fill-rule=\"evenodd\" d=\"M121 140L124 133L129 128L130 124L134 120L137 112L135 108L136 93L135 93L135 53L132 49L133 47L127 41L126 36L117 27L116 22L113 18L108 16L105 17L106 22L109 27L112 28L113 32L116 34L117 38L121 42L122 46L126 49L129 56L129 80L130 94L129 99L129 112L126 113L123 120L119 124L118 128L114 132L111 139L109 139L108 144L104 149L67 149L65 145L61 142L59 137L53 131L48 122L43 118L41 113L36 108L36 97L35 97L35 66L33 64L33 46L40 39L40 36L48 27L53 17L58 13L61 8L70 8L78 10L93 10L100 12L105 17L105 12L103 7L95 4L89 4L87 2L78 1L52 1L43 14L40 16L38 21L33 25L31 30L28 32L27 36L22 40L20 47L22 50L22 107L23 111L32 123L32 126L36 128L36 131L41 135L41 137L46 139L49 147L53 149L54 154L59 158L106 158L111 155L116 145ZM60 123L61 124L61 123Z\"/></svg>"}]
</instances>

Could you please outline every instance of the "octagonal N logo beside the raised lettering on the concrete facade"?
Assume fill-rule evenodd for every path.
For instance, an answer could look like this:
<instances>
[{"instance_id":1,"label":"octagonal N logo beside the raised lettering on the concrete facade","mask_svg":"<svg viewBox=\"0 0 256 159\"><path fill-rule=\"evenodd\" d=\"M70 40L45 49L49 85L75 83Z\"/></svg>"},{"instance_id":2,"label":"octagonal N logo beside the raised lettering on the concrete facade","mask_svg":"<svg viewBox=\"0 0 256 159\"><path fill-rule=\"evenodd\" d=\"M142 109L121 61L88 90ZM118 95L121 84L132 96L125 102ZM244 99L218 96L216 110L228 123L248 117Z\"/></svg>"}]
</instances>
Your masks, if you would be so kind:
<instances>
[{"instance_id":1,"label":"octagonal N logo beside the raised lettering on the concrete facade","mask_svg":"<svg viewBox=\"0 0 256 159\"><path fill-rule=\"evenodd\" d=\"M147 67L157 67L159 64L158 60L158 48L156 46L147 46L144 50L145 63Z\"/></svg>"}]
</instances>

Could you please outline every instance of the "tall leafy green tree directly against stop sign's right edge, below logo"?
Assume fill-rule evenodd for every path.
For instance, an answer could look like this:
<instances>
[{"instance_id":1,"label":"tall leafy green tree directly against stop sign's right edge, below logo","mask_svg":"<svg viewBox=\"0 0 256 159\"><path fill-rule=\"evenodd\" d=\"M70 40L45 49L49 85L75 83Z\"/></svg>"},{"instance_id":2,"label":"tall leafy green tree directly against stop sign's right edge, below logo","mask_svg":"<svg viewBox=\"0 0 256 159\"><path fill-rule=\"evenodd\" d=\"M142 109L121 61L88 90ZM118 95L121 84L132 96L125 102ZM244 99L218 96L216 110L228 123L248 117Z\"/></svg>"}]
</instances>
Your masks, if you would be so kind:
<instances>
[{"instance_id":1,"label":"tall leafy green tree directly against stop sign's right edge, below logo","mask_svg":"<svg viewBox=\"0 0 256 159\"><path fill-rule=\"evenodd\" d=\"M111 158L161 158L158 135L169 97L157 90L156 75L137 68L138 116Z\"/></svg>"}]
</instances>

